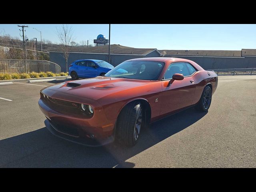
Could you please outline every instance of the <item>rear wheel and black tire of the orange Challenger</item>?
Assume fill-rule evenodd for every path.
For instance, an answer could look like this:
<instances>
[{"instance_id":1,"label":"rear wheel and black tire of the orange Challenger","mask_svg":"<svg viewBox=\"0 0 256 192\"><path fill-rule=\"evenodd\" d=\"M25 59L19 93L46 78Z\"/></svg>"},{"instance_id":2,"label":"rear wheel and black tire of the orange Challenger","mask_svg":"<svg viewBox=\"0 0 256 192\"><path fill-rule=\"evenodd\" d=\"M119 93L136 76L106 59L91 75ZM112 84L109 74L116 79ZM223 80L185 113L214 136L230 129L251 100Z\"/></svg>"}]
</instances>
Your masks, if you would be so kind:
<instances>
[{"instance_id":1,"label":"rear wheel and black tire of the orange Challenger","mask_svg":"<svg viewBox=\"0 0 256 192\"><path fill-rule=\"evenodd\" d=\"M212 102L212 89L206 86L195 108L199 111L208 111L208 109L210 108L211 102Z\"/></svg>"}]
</instances>

